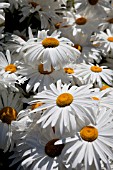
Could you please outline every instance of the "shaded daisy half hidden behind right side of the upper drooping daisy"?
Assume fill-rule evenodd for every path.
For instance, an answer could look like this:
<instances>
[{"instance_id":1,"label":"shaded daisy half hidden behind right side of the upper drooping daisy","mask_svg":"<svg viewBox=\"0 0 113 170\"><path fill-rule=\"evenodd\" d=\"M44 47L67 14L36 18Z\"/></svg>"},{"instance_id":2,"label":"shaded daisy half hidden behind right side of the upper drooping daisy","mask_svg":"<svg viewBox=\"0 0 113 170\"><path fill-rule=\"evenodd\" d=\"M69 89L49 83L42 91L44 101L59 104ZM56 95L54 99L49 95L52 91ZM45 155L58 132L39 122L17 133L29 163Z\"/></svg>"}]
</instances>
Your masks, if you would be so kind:
<instances>
[{"instance_id":1,"label":"shaded daisy half hidden behind right side of the upper drooping daisy","mask_svg":"<svg viewBox=\"0 0 113 170\"><path fill-rule=\"evenodd\" d=\"M101 61L102 57L98 48L94 47L90 41L89 33L84 34L83 31L76 29L75 35L73 36L72 30L68 29L63 35L73 42L73 47L78 49L81 54L76 60L76 63L81 62L91 62L96 61L97 63Z\"/></svg>"}]
</instances>

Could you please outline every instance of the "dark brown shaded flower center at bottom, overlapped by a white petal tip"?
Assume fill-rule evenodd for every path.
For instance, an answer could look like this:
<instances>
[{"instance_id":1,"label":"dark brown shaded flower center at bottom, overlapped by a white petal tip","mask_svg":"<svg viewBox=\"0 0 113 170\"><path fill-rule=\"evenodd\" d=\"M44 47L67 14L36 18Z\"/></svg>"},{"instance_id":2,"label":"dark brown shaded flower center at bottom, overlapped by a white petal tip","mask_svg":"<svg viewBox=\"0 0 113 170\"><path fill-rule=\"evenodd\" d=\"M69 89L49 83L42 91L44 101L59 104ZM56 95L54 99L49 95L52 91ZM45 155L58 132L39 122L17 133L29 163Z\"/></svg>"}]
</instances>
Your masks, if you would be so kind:
<instances>
[{"instance_id":1,"label":"dark brown shaded flower center at bottom, overlapped by a white petal tip","mask_svg":"<svg viewBox=\"0 0 113 170\"><path fill-rule=\"evenodd\" d=\"M45 153L51 158L59 156L64 148L64 144L54 145L58 140L59 139L52 139L45 146Z\"/></svg>"}]
</instances>

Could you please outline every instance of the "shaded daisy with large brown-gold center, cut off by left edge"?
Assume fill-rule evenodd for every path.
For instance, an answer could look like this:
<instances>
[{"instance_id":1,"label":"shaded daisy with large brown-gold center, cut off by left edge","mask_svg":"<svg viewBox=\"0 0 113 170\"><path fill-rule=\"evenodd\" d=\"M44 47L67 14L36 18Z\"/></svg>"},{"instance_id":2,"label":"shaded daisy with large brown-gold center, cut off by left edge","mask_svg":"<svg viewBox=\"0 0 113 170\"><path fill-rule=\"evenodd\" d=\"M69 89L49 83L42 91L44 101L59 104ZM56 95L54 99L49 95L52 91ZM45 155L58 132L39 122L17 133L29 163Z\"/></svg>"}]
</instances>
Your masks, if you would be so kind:
<instances>
[{"instance_id":1,"label":"shaded daisy with large brown-gold center, cut off by left edge","mask_svg":"<svg viewBox=\"0 0 113 170\"><path fill-rule=\"evenodd\" d=\"M13 147L12 123L23 108L22 94L3 90L0 94L0 148L7 151Z\"/></svg>"}]
</instances>

